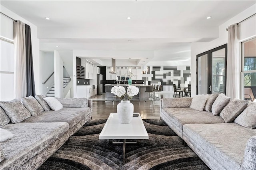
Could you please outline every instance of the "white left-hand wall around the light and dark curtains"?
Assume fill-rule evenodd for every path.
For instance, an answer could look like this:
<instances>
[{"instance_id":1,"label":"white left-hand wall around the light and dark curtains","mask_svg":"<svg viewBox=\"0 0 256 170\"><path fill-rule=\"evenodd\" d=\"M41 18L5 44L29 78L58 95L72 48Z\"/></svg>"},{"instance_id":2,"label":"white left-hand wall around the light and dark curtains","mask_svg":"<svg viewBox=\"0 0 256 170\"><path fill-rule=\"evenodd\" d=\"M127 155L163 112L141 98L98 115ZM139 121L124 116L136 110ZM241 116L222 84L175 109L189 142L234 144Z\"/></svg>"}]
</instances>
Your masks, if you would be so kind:
<instances>
[{"instance_id":1,"label":"white left-hand wall around the light and dark curtains","mask_svg":"<svg viewBox=\"0 0 256 170\"><path fill-rule=\"evenodd\" d=\"M18 16L14 12L8 10L4 6L1 7L1 12L14 18L15 20L20 20L26 24L28 24L31 28L31 41L32 41L32 55L33 55L33 65L34 65L34 79L35 79L35 88L36 94L40 93L40 55L39 55L39 39L37 38L37 26L28 22L24 18ZM2 16L1 14L1 35L7 36L8 38L13 40L13 25L12 20ZM12 96L13 98L13 96Z\"/></svg>"}]
</instances>

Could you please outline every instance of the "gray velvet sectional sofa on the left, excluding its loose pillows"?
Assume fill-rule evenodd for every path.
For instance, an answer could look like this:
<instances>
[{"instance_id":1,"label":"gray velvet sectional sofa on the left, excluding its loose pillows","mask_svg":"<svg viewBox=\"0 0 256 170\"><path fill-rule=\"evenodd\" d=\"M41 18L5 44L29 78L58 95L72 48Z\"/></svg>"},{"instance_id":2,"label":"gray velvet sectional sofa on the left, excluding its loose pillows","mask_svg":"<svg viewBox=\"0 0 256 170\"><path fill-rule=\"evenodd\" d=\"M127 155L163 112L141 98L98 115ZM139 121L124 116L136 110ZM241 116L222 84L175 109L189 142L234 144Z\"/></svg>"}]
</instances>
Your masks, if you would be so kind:
<instances>
[{"instance_id":1,"label":"gray velvet sectional sofa on the left, excluding its loose pillows","mask_svg":"<svg viewBox=\"0 0 256 170\"><path fill-rule=\"evenodd\" d=\"M41 99L43 98L44 97L41 95ZM2 121L4 121L4 119L1 119L1 128L13 134L12 138L0 142L2 151L1 170L34 170L38 168L46 159L56 152L72 134L91 119L91 99L58 99L58 101L63 105L63 109L58 111L49 110L50 108L46 105L46 102L42 103L44 101L41 100L41 103L39 103L44 111L37 113L35 116L30 115L20 123L12 123L14 117L11 118L10 114L12 113L10 113L8 107L6 107L8 101L0 102L0 106L2 107L0 108L1 118L6 118L7 115L10 118L9 121L11 121L6 124L8 120L6 121L5 119L3 123ZM17 104L17 101L14 102ZM25 103L23 104L26 108L29 108L29 103L26 103L26 105ZM18 105L20 104L18 103ZM29 111L32 113L31 109Z\"/></svg>"}]
</instances>

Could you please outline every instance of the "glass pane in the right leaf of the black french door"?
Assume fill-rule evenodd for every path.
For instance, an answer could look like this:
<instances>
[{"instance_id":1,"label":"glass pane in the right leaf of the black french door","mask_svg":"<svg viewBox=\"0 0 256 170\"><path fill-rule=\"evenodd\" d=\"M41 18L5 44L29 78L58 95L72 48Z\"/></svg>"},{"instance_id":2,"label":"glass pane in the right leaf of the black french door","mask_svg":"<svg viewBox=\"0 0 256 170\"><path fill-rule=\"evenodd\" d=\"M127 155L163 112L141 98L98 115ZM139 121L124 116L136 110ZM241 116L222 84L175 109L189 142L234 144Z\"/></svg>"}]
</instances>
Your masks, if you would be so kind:
<instances>
[{"instance_id":1,"label":"glass pane in the right leaf of the black french door","mask_svg":"<svg viewBox=\"0 0 256 170\"><path fill-rule=\"evenodd\" d=\"M212 52L212 93L225 93L225 49Z\"/></svg>"}]
</instances>

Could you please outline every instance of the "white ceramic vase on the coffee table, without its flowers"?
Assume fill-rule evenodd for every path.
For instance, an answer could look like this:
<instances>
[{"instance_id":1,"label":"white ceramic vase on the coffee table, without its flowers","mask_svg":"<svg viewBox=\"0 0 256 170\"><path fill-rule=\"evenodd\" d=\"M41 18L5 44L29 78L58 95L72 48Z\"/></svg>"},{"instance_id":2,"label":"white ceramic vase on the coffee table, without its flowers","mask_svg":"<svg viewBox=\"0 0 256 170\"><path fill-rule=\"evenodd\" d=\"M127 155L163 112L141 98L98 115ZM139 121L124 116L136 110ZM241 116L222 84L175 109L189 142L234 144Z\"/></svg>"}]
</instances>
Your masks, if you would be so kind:
<instances>
[{"instance_id":1,"label":"white ceramic vase on the coffee table, without its flowers","mask_svg":"<svg viewBox=\"0 0 256 170\"><path fill-rule=\"evenodd\" d=\"M130 103L130 101L121 101L121 103L118 103L116 109L117 109L119 123L121 124L131 123L134 107L133 107L133 104Z\"/></svg>"}]
</instances>

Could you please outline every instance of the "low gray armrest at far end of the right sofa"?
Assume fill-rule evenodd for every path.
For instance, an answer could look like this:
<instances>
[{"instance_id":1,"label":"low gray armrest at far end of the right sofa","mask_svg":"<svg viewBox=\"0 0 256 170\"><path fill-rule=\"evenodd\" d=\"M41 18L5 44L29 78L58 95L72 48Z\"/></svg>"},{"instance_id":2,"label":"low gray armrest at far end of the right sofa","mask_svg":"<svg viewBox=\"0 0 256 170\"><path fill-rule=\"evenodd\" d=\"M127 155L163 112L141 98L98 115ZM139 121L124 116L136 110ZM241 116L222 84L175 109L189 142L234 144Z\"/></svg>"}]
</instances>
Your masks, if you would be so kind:
<instances>
[{"instance_id":1,"label":"low gray armrest at far end of the right sofa","mask_svg":"<svg viewBox=\"0 0 256 170\"><path fill-rule=\"evenodd\" d=\"M163 98L163 108L190 107L193 98Z\"/></svg>"}]
</instances>

